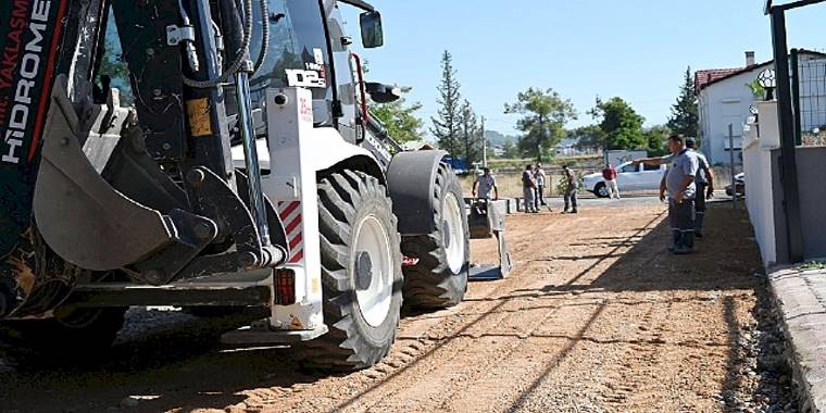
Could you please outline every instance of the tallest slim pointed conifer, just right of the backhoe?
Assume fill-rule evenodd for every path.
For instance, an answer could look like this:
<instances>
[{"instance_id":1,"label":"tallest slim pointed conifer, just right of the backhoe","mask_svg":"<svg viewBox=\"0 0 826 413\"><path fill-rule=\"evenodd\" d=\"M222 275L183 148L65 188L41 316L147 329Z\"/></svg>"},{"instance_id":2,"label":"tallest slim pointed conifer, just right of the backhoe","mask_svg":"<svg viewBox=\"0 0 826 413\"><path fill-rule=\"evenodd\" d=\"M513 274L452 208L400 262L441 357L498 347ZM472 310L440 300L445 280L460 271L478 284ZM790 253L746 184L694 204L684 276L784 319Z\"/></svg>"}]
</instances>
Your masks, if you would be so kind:
<instances>
[{"instance_id":1,"label":"tallest slim pointed conifer, just right of the backhoe","mask_svg":"<svg viewBox=\"0 0 826 413\"><path fill-rule=\"evenodd\" d=\"M462 93L459 91L460 84L456 71L453 68L453 57L445 51L441 57L441 84L438 86L439 110L436 116L430 117L433 127L430 133L436 137L439 148L447 150L451 155L460 153L459 134L462 121Z\"/></svg>"}]
</instances>

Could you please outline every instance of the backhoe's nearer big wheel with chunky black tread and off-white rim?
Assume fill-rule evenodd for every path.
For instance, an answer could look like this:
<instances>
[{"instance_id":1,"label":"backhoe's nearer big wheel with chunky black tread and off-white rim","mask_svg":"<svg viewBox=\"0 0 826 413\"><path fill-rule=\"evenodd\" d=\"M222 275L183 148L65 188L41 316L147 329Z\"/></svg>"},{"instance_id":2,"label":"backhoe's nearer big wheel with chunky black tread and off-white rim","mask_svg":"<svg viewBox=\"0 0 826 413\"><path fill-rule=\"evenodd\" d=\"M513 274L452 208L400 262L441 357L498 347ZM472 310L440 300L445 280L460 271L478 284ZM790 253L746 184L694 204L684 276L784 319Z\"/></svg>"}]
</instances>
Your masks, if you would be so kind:
<instances>
[{"instance_id":1,"label":"backhoe's nearer big wheel with chunky black tread and off-white rim","mask_svg":"<svg viewBox=\"0 0 826 413\"><path fill-rule=\"evenodd\" d=\"M401 312L401 238L384 185L342 171L318 184L324 320L329 333L297 349L304 365L368 367L396 340Z\"/></svg>"}]
</instances>

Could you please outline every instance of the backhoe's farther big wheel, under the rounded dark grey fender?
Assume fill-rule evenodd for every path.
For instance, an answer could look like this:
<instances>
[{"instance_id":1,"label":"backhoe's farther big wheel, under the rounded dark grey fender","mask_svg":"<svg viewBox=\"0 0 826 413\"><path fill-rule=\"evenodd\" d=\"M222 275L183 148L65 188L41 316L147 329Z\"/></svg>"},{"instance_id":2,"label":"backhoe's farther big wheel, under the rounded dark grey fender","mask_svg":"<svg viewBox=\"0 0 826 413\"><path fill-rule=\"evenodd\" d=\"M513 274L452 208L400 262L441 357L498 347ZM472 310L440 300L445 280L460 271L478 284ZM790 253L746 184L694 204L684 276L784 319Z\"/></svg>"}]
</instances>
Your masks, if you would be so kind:
<instances>
[{"instance_id":1,"label":"backhoe's farther big wheel, under the rounded dark grey fender","mask_svg":"<svg viewBox=\"0 0 826 413\"><path fill-rule=\"evenodd\" d=\"M467 290L470 229L462 187L453 171L440 164L434 185L435 228L428 235L404 237L402 253L418 259L405 266L404 300L420 309L459 304Z\"/></svg>"}]
</instances>

